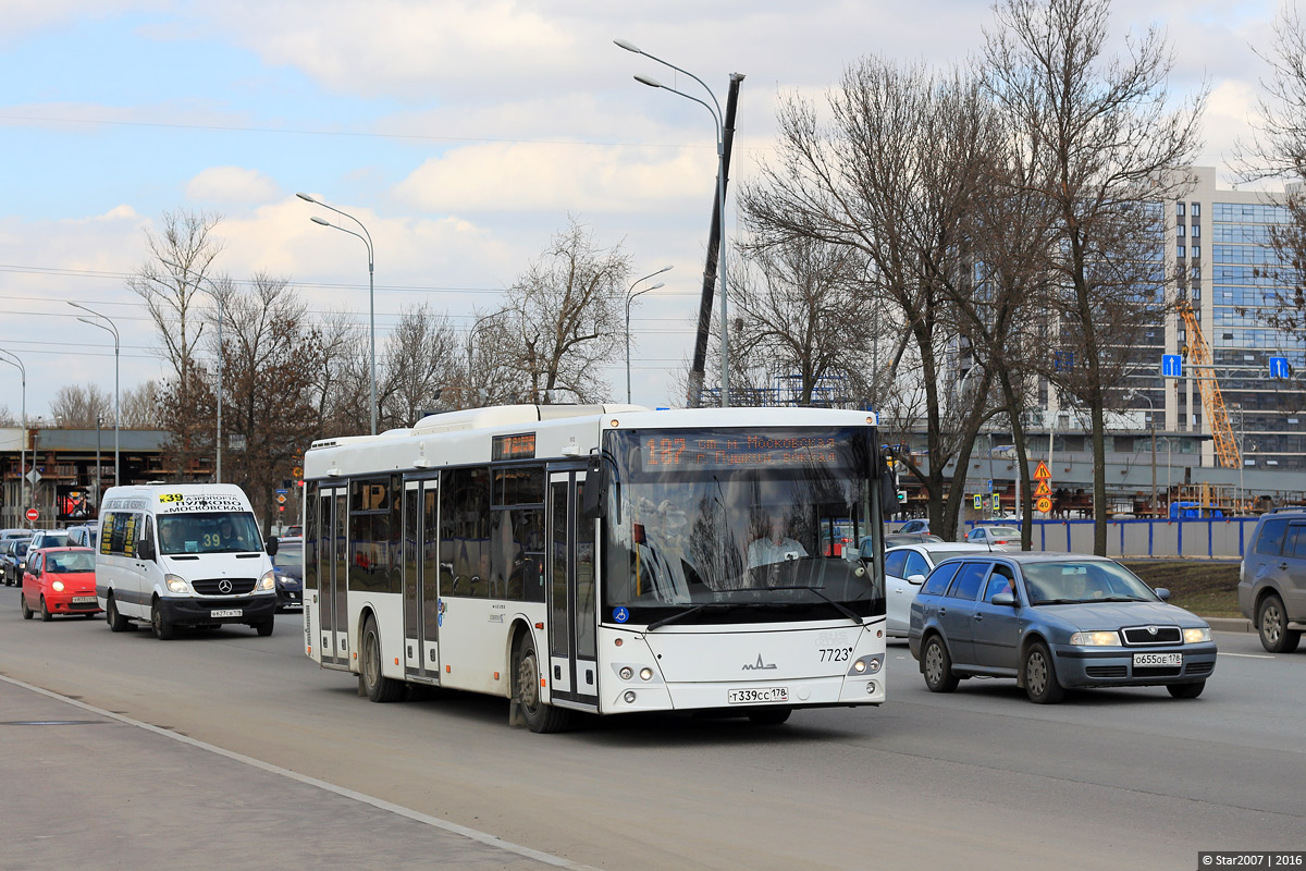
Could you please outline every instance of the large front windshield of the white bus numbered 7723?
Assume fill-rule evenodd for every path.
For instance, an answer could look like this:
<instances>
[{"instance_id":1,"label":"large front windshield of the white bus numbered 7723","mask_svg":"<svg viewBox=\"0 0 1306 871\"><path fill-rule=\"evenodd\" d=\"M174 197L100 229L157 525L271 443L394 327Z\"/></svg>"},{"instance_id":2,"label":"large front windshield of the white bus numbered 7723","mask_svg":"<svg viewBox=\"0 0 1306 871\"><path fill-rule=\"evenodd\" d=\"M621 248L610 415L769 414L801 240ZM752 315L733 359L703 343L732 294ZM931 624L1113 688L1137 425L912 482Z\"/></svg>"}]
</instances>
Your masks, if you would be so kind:
<instances>
[{"instance_id":1,"label":"large front windshield of the white bus numbered 7723","mask_svg":"<svg viewBox=\"0 0 1306 871\"><path fill-rule=\"evenodd\" d=\"M811 620L840 614L836 602L884 612L882 580L844 559L872 534L868 430L622 430L605 451L605 614Z\"/></svg>"}]
</instances>

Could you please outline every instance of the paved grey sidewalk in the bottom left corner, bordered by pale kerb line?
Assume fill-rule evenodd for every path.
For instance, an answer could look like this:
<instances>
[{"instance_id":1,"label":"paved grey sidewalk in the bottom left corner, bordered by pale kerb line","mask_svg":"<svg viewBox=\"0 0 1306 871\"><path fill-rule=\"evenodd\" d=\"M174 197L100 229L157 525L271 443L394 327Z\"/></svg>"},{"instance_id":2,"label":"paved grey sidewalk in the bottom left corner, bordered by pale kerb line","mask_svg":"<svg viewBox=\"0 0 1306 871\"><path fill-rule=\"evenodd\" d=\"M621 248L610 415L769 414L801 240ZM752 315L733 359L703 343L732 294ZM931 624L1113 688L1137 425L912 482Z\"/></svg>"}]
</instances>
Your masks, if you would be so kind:
<instances>
[{"instance_id":1,"label":"paved grey sidewalk in the bottom left corner, bordered by pale kerb line","mask_svg":"<svg viewBox=\"0 0 1306 871\"><path fill-rule=\"evenodd\" d=\"M0 867L579 867L3 678L0 717Z\"/></svg>"}]
</instances>

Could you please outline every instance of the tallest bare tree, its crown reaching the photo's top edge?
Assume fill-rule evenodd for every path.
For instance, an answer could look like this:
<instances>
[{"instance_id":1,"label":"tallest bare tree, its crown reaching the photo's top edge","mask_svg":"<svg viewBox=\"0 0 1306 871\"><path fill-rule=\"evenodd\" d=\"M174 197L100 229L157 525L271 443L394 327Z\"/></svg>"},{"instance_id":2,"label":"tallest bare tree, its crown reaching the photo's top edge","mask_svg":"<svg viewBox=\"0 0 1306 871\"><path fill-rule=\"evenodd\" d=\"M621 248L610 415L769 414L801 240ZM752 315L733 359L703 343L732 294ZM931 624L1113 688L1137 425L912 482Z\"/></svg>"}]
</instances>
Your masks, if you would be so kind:
<instances>
[{"instance_id":1,"label":"tallest bare tree, its crown reaching the photo's top edge","mask_svg":"<svg viewBox=\"0 0 1306 871\"><path fill-rule=\"evenodd\" d=\"M1105 410L1134 362L1132 340L1158 320L1164 236L1149 204L1191 185L1205 90L1171 108L1171 57L1155 29L1128 56L1105 57L1110 0L1000 0L996 16L986 84L1036 167L1028 187L1057 212L1047 270L1060 366L1047 375L1092 420L1093 548L1105 554Z\"/></svg>"}]
</instances>

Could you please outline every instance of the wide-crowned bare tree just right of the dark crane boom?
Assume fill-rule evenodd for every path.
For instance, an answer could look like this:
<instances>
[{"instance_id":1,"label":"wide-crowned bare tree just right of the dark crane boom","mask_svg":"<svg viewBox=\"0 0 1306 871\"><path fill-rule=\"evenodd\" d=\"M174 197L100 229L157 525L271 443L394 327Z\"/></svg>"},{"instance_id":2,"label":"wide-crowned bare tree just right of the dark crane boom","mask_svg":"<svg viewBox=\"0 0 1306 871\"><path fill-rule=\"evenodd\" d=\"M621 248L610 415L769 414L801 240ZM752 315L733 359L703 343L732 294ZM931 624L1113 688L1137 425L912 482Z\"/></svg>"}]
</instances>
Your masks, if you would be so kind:
<instances>
[{"instance_id":1,"label":"wide-crowned bare tree just right of the dark crane boom","mask_svg":"<svg viewBox=\"0 0 1306 871\"><path fill-rule=\"evenodd\" d=\"M946 466L959 452L959 462L969 457L982 409L946 419L952 372L940 351L952 345L951 299L961 293L947 285L969 270L969 212L996 135L991 112L961 72L939 76L875 57L845 69L829 110L827 124L799 98L782 103L780 157L746 187L743 209L763 244L810 236L870 262L872 295L902 337L875 377L896 385L910 376L919 390L929 467L904 460L931 522L951 529L963 494ZM904 360L914 371L900 368ZM982 372L970 396L986 397L990 379Z\"/></svg>"}]
</instances>

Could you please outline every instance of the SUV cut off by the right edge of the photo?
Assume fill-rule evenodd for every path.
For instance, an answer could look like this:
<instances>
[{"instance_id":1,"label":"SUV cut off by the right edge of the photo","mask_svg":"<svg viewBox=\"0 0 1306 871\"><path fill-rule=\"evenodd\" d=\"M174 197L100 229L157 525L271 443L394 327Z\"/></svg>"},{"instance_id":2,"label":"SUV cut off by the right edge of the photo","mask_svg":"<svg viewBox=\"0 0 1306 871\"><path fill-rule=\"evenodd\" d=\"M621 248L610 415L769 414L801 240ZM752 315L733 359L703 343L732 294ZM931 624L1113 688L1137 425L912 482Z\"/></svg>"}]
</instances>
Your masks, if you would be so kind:
<instances>
[{"instance_id":1,"label":"SUV cut off by the right edge of the photo","mask_svg":"<svg viewBox=\"0 0 1306 871\"><path fill-rule=\"evenodd\" d=\"M1238 607L1271 653L1292 653L1306 629L1306 508L1262 515L1242 556Z\"/></svg>"}]
</instances>

